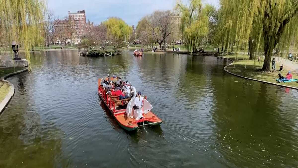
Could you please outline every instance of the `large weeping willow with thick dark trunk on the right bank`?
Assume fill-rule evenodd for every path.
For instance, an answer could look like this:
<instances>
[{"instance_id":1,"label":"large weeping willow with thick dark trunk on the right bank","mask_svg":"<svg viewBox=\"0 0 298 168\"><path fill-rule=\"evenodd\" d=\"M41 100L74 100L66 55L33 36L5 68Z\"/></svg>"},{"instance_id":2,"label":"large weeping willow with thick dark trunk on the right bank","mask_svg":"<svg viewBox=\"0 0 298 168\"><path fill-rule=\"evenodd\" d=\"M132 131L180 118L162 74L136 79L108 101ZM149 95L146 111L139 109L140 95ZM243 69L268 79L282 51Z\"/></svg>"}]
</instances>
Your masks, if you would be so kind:
<instances>
[{"instance_id":1,"label":"large weeping willow with thick dark trunk on the right bank","mask_svg":"<svg viewBox=\"0 0 298 168\"><path fill-rule=\"evenodd\" d=\"M287 49L298 35L298 0L221 0L220 5L215 42L226 46L235 43L237 51L249 43L251 58L262 47L265 60L260 71L270 71L272 52L278 43Z\"/></svg>"}]
</instances>

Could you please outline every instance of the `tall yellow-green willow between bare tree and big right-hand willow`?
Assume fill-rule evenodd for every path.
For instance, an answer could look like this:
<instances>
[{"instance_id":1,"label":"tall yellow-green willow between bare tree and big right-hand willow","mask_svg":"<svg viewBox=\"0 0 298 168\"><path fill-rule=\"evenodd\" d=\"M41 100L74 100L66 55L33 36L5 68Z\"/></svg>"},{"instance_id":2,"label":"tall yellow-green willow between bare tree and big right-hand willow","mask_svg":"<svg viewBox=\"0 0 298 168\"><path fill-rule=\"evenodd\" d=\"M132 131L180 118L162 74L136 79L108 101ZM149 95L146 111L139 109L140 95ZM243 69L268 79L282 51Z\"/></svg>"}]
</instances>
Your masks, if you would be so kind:
<instances>
[{"instance_id":1,"label":"tall yellow-green willow between bare tree and big right-hand willow","mask_svg":"<svg viewBox=\"0 0 298 168\"><path fill-rule=\"evenodd\" d=\"M190 0L187 7L179 1L176 9L182 13L181 33L186 40L188 51L198 52L195 44L201 43L209 31L209 20L215 7L209 4L202 4L201 0Z\"/></svg>"}]
</instances>

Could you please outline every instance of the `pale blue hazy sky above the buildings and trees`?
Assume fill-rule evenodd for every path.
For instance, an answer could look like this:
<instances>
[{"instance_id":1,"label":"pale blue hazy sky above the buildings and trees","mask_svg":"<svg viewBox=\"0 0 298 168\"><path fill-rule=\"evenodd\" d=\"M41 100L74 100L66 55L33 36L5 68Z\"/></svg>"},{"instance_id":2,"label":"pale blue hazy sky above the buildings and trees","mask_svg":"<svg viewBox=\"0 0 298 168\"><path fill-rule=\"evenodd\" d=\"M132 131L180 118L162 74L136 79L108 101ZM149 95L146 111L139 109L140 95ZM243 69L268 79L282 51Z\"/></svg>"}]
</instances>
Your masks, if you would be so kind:
<instances>
[{"instance_id":1,"label":"pale blue hazy sky above the buildings and trees","mask_svg":"<svg viewBox=\"0 0 298 168\"><path fill-rule=\"evenodd\" d=\"M183 2L187 0L183 0ZM204 3L218 6L219 0L203 0ZM48 8L56 19L68 16L68 11L74 13L85 10L86 19L94 24L116 16L128 25L136 26L138 21L154 10L172 10L176 0L48 0Z\"/></svg>"}]
</instances>

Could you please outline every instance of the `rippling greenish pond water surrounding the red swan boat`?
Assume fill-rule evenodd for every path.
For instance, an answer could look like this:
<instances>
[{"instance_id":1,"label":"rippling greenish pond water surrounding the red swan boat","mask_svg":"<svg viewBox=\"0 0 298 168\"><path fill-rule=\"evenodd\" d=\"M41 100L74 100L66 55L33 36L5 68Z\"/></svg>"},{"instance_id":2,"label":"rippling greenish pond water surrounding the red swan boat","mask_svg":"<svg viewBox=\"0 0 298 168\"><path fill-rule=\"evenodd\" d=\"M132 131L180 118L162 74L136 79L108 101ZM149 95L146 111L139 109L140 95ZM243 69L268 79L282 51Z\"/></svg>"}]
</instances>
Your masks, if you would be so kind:
<instances>
[{"instance_id":1,"label":"rippling greenish pond water surrounding the red swan boat","mask_svg":"<svg viewBox=\"0 0 298 168\"><path fill-rule=\"evenodd\" d=\"M298 92L227 74L217 57L88 58L35 52L8 78L0 167L296 167ZM126 132L97 94L119 75L148 96L160 126ZM148 132L148 133L147 133Z\"/></svg>"}]
</instances>

